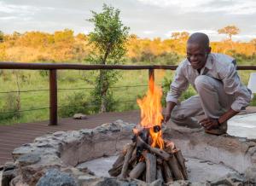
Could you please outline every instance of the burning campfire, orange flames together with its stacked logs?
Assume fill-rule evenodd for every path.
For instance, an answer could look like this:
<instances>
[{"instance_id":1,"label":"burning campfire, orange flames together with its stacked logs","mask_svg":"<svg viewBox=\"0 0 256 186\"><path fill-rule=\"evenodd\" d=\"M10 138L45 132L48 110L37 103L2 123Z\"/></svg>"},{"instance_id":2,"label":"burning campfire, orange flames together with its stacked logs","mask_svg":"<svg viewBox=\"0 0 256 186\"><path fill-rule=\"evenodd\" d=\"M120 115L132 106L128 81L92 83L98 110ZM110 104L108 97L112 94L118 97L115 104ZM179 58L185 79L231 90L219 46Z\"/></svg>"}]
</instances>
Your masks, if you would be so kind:
<instances>
[{"instance_id":1,"label":"burning campfire, orange flames together with its stacked logs","mask_svg":"<svg viewBox=\"0 0 256 186\"><path fill-rule=\"evenodd\" d=\"M141 122L133 129L132 142L125 145L118 159L108 171L112 177L131 177L152 183L188 179L183 154L171 141L162 138L162 91L149 79L149 89L137 103L141 108Z\"/></svg>"}]
</instances>

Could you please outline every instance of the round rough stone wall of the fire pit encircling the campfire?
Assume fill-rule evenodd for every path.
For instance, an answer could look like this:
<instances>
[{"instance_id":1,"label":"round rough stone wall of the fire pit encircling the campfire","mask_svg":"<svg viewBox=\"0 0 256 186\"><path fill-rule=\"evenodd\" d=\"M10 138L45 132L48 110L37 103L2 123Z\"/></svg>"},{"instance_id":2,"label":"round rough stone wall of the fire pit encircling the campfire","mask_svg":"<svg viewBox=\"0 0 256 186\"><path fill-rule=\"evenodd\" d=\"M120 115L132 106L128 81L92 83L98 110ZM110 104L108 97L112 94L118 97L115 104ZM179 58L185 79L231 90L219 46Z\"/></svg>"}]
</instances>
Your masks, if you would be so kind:
<instances>
[{"instance_id":1,"label":"round rough stone wall of the fire pit encircling the campfire","mask_svg":"<svg viewBox=\"0 0 256 186\"><path fill-rule=\"evenodd\" d=\"M90 160L116 155L131 142L132 128L121 120L80 131L57 131L37 137L13 152L14 163L3 167L3 186L10 185L161 185L136 179L99 177L78 166ZM253 185L256 183L256 142L246 138L205 134L201 129L174 127L164 132L181 148L185 158L196 158L228 167L232 172L211 181L176 181L167 185ZM194 160L193 159L193 160ZM193 171L193 168L191 169Z\"/></svg>"}]
</instances>

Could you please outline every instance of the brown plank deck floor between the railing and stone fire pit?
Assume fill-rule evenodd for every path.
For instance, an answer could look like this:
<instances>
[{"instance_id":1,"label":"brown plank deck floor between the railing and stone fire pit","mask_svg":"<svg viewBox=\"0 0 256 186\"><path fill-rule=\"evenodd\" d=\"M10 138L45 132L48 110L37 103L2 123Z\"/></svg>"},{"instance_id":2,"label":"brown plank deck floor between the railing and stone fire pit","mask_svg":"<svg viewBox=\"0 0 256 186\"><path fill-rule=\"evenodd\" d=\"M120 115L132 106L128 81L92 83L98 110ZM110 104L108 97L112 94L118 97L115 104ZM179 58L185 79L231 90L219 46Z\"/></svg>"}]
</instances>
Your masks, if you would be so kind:
<instances>
[{"instance_id":1,"label":"brown plank deck floor between the railing and stone fire pit","mask_svg":"<svg viewBox=\"0 0 256 186\"><path fill-rule=\"evenodd\" d=\"M94 128L103 123L113 122L122 119L125 122L137 123L139 121L139 111L129 111L123 113L99 113L90 115L88 119L59 119L59 125L48 125L49 121L0 125L0 166L6 161L11 161L14 148L20 147L24 143L33 142L36 137L43 136L49 132L70 131L84 128Z\"/></svg>"}]
</instances>

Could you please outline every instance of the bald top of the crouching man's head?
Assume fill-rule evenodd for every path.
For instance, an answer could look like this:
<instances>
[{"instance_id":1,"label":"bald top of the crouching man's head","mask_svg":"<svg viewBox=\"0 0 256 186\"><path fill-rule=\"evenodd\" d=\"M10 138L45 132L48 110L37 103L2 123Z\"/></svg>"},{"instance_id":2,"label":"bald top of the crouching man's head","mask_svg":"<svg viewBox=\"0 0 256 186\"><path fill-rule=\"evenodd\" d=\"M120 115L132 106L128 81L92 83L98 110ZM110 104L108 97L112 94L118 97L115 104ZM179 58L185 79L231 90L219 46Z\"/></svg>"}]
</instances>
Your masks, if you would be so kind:
<instances>
[{"instance_id":1,"label":"bald top of the crouching man's head","mask_svg":"<svg viewBox=\"0 0 256 186\"><path fill-rule=\"evenodd\" d=\"M209 48L209 38L207 34L201 32L193 33L187 42L187 44L198 44L204 49Z\"/></svg>"}]
</instances>

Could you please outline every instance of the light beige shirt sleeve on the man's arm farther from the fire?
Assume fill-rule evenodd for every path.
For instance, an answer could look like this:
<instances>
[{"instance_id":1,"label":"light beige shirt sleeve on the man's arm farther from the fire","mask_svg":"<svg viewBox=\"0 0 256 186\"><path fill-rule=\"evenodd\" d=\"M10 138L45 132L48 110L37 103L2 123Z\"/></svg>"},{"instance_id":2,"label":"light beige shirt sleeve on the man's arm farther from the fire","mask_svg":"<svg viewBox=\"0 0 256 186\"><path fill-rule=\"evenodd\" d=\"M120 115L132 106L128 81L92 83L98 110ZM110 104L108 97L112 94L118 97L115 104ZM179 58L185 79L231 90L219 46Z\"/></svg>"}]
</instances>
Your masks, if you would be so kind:
<instances>
[{"instance_id":1,"label":"light beige shirt sleeve on the man's arm farther from the fire","mask_svg":"<svg viewBox=\"0 0 256 186\"><path fill-rule=\"evenodd\" d=\"M228 95L234 95L235 101L232 103L231 108L240 112L241 108L246 108L251 101L251 92L247 87L241 84L241 80L236 72L236 67L230 65L223 74L224 91Z\"/></svg>"}]
</instances>

